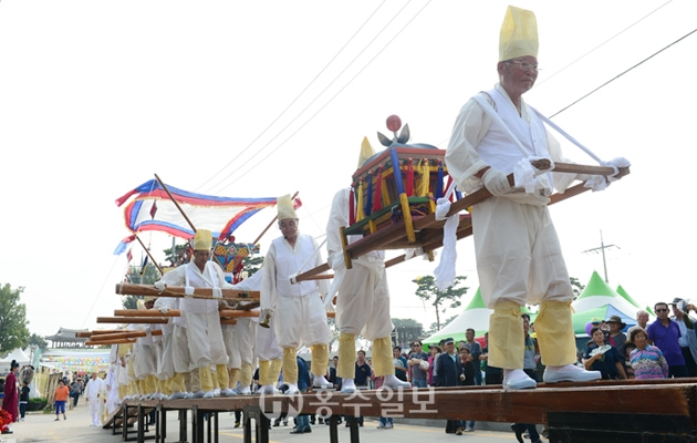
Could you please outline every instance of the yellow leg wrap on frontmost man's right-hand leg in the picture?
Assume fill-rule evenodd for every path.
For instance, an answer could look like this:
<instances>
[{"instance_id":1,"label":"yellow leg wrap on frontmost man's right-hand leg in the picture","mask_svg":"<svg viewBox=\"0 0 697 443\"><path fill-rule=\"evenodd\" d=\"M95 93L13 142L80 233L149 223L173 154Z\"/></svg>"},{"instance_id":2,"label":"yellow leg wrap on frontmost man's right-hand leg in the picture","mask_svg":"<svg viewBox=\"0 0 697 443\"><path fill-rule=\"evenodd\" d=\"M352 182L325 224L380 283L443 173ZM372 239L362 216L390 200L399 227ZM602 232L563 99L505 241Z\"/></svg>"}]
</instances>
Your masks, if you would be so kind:
<instances>
[{"instance_id":1,"label":"yellow leg wrap on frontmost man's right-hand leg in the picture","mask_svg":"<svg viewBox=\"0 0 697 443\"><path fill-rule=\"evenodd\" d=\"M561 367L576 361L576 340L571 316L571 300L540 303L534 331L543 364Z\"/></svg>"}]
</instances>

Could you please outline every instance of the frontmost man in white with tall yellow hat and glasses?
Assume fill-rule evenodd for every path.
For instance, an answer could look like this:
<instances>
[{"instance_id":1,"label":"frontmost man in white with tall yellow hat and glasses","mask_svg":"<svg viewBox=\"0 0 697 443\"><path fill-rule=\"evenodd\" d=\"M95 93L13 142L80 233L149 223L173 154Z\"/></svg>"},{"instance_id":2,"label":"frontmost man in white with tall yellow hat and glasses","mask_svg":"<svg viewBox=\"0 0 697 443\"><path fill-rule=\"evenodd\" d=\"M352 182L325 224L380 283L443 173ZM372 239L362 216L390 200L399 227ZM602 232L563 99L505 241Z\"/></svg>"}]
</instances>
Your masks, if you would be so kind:
<instances>
[{"instance_id":1,"label":"frontmost man in white with tall yellow hat and glasses","mask_svg":"<svg viewBox=\"0 0 697 443\"><path fill-rule=\"evenodd\" d=\"M573 291L548 203L553 187L563 192L575 178L594 190L606 187L607 179L531 167L534 158L562 161L559 142L543 124L553 123L522 99L538 76L538 45L534 13L509 7L500 33L499 83L465 104L446 153L448 173L459 190L483 186L492 194L472 206L471 217L481 296L493 309L489 364L503 368L504 389L535 387L522 370L520 308L526 303L540 303L534 326L547 365L544 382L600 379L600 372L574 365ZM628 166L624 158L613 162L615 171ZM511 187L507 176L513 172Z\"/></svg>"}]
</instances>

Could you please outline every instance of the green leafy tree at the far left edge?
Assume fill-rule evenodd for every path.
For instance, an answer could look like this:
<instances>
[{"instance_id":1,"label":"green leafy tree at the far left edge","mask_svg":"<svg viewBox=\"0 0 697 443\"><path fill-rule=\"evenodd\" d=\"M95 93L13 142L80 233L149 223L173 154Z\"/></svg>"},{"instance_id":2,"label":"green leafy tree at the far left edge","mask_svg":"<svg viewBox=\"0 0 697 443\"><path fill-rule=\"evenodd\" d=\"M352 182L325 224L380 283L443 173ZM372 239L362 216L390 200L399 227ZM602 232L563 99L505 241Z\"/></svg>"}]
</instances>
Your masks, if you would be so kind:
<instances>
[{"instance_id":1,"label":"green leafy tree at the far left edge","mask_svg":"<svg viewBox=\"0 0 697 443\"><path fill-rule=\"evenodd\" d=\"M23 287L12 289L9 284L0 287L0 353L4 354L29 344L27 307L20 303Z\"/></svg>"}]
</instances>

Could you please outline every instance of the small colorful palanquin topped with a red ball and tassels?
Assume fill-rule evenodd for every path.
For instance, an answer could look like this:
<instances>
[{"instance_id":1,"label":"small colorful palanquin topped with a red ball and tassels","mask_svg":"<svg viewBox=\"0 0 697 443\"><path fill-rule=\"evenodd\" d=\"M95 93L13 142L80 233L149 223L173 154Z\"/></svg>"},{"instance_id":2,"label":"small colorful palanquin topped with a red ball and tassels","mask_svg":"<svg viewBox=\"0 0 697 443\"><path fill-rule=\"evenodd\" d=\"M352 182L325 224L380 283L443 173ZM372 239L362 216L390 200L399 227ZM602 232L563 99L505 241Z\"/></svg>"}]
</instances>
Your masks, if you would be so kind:
<instances>
[{"instance_id":1,"label":"small colorful palanquin topped with a red ball and tassels","mask_svg":"<svg viewBox=\"0 0 697 443\"><path fill-rule=\"evenodd\" d=\"M408 125L397 134L402 122L396 115L387 120L395 134L391 141L378 137L387 148L368 158L353 174L350 226L344 235L364 237L404 222L408 243L416 241L414 218L433 214L436 200L441 198L452 178L445 166L444 150L427 144L406 144ZM454 193L451 198L461 198ZM385 249L404 248L405 245Z\"/></svg>"}]
</instances>

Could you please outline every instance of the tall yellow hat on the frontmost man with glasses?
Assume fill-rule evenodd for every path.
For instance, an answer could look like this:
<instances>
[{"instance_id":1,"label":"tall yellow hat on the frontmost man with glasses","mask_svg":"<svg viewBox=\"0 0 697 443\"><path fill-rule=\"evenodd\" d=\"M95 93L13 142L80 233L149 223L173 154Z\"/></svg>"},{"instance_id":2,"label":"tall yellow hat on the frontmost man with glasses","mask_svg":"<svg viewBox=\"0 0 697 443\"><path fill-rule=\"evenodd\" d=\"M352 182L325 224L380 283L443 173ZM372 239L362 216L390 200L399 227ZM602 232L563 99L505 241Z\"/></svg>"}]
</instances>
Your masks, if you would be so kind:
<instances>
[{"instance_id":1,"label":"tall yellow hat on the frontmost man with glasses","mask_svg":"<svg viewBox=\"0 0 697 443\"><path fill-rule=\"evenodd\" d=\"M538 20L534 12L508 7L499 38L499 61L524 55L538 58Z\"/></svg>"}]
</instances>

